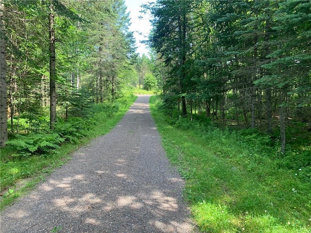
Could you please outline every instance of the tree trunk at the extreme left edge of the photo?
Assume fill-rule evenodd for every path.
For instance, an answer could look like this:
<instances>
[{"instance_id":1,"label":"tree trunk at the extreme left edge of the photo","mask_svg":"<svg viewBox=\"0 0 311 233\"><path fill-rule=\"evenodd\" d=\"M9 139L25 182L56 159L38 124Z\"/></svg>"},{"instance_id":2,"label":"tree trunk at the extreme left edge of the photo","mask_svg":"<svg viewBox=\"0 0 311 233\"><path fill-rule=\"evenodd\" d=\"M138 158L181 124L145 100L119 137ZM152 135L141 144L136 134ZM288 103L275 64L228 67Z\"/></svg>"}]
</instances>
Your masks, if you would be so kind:
<instances>
[{"instance_id":1,"label":"tree trunk at the extreme left edge of the photo","mask_svg":"<svg viewBox=\"0 0 311 233\"><path fill-rule=\"evenodd\" d=\"M5 61L5 31L3 20L4 4L0 3L0 147L8 140L6 113L6 61Z\"/></svg>"}]
</instances>

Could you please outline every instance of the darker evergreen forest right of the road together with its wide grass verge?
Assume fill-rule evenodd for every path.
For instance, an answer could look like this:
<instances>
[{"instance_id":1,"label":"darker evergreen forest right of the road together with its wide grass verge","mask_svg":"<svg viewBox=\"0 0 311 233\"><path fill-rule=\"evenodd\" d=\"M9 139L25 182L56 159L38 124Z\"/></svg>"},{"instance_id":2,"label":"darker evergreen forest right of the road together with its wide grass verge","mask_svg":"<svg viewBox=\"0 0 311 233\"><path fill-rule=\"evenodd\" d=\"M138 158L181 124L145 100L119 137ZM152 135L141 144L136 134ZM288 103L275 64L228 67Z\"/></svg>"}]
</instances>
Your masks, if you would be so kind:
<instances>
[{"instance_id":1,"label":"darker evergreen forest right of the road together with its wide grass verge","mask_svg":"<svg viewBox=\"0 0 311 233\"><path fill-rule=\"evenodd\" d=\"M153 116L199 229L309 233L311 1L158 0L144 10L167 69Z\"/></svg>"}]
</instances>

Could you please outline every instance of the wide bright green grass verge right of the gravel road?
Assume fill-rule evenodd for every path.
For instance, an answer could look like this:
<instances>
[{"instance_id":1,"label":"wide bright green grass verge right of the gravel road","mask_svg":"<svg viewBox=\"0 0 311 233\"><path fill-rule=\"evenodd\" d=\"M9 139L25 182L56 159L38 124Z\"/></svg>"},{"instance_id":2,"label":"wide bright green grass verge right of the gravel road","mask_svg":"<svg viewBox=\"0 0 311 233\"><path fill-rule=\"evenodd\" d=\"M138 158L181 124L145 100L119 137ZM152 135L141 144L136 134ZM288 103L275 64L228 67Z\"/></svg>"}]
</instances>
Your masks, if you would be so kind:
<instances>
[{"instance_id":1,"label":"wide bright green grass verge right of the gravel road","mask_svg":"<svg viewBox=\"0 0 311 233\"><path fill-rule=\"evenodd\" d=\"M172 124L155 96L151 110L167 156L186 180L184 196L201 232L311 232L310 167L283 166L266 136L196 119Z\"/></svg>"}]
</instances>

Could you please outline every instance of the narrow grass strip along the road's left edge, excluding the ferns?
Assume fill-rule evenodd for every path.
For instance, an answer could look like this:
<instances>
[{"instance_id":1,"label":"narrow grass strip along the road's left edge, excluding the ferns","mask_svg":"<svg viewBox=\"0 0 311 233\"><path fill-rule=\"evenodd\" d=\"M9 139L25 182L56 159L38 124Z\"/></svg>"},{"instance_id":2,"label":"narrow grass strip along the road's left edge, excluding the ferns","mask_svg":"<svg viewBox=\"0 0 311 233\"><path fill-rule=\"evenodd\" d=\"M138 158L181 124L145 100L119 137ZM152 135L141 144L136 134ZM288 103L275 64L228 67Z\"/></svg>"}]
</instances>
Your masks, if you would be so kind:
<instances>
[{"instance_id":1,"label":"narrow grass strip along the road's left edge, excluding the ferns","mask_svg":"<svg viewBox=\"0 0 311 233\"><path fill-rule=\"evenodd\" d=\"M0 208L12 204L18 197L40 181L45 180L55 168L62 166L70 159L70 153L82 145L86 145L92 138L108 133L121 120L128 108L137 99L137 96L127 95L118 100L114 105L115 111L107 109L110 105L95 105L94 122L86 137L79 140L78 144L63 144L56 153L46 155L33 155L28 157L14 157L15 148L7 145L1 148L0 158Z\"/></svg>"}]
</instances>

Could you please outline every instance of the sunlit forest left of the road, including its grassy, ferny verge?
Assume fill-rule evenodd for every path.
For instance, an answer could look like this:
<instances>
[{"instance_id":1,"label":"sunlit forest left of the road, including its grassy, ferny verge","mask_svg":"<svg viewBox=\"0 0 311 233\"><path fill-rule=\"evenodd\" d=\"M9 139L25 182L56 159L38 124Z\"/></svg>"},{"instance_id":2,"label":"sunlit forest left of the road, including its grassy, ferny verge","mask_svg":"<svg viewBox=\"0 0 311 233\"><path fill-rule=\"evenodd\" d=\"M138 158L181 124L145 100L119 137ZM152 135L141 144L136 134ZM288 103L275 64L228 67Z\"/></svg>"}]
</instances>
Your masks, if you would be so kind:
<instances>
[{"instance_id":1,"label":"sunlit forest left of the road, including its grassy, ferny verge","mask_svg":"<svg viewBox=\"0 0 311 233\"><path fill-rule=\"evenodd\" d=\"M158 71L154 56L135 52L123 0L0 7L2 208L34 184L18 182L43 177L113 128L133 92L154 93Z\"/></svg>"}]
</instances>

